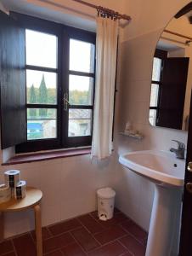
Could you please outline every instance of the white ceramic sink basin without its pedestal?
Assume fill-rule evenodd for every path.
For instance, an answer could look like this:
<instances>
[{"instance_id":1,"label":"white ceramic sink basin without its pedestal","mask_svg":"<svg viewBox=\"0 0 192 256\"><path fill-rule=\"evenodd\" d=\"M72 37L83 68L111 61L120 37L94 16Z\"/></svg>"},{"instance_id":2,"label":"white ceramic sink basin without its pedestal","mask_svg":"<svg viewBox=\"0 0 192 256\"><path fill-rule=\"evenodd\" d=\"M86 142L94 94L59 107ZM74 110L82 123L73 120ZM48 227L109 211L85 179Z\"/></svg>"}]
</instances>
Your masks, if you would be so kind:
<instances>
[{"instance_id":1,"label":"white ceramic sink basin without its pedestal","mask_svg":"<svg viewBox=\"0 0 192 256\"><path fill-rule=\"evenodd\" d=\"M161 185L184 186L185 161L167 151L144 150L123 154L123 166Z\"/></svg>"}]
</instances>

